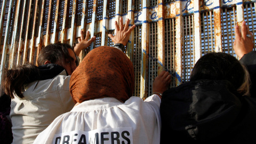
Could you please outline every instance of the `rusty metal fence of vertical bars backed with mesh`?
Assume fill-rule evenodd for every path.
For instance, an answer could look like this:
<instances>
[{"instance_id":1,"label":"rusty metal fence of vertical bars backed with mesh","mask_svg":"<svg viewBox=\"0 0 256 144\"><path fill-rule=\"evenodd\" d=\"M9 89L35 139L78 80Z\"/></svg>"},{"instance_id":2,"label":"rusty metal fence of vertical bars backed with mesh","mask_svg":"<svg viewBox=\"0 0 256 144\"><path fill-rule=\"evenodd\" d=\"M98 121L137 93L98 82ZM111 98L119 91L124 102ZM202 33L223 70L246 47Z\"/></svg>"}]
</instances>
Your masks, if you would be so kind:
<instances>
[{"instance_id":1,"label":"rusty metal fence of vertical bars backed with mesh","mask_svg":"<svg viewBox=\"0 0 256 144\"><path fill-rule=\"evenodd\" d=\"M136 25L125 53L134 65L134 95L145 99L162 70L172 74L174 87L189 81L196 61L206 53L237 57L234 27L242 21L255 42L255 6L252 0L0 0L0 78L5 69L36 65L48 44L75 46L81 30L97 37L81 59L95 47L113 46L107 35L115 35L114 22L123 17L124 23L129 18L130 26Z\"/></svg>"}]
</instances>

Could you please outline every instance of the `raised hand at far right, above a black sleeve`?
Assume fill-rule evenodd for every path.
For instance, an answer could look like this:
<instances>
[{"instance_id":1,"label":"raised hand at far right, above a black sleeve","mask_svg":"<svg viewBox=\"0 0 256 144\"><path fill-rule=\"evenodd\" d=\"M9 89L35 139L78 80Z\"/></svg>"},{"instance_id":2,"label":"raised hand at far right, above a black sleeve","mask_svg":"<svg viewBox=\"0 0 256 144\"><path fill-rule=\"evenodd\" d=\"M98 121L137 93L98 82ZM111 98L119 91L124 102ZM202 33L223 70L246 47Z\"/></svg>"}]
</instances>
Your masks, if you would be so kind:
<instances>
[{"instance_id":1,"label":"raised hand at far right, above a black sleeve","mask_svg":"<svg viewBox=\"0 0 256 144\"><path fill-rule=\"evenodd\" d=\"M244 54L249 53L253 50L253 35L246 25L246 22L242 22L241 32L238 26L235 26L234 50L239 58L242 58Z\"/></svg>"}]
</instances>

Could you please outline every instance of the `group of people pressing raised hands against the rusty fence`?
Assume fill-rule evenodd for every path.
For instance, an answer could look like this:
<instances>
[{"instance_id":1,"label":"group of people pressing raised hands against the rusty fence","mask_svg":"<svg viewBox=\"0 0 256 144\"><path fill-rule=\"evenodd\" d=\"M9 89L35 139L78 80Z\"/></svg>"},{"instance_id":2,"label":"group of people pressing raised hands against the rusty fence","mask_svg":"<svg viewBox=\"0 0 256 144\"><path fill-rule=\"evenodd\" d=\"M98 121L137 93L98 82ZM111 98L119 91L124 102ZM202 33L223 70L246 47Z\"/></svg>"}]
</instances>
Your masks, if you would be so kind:
<instances>
[{"instance_id":1,"label":"group of people pressing raised hands against the rusty fence","mask_svg":"<svg viewBox=\"0 0 256 144\"><path fill-rule=\"evenodd\" d=\"M50 44L29 63L6 71L1 143L256 143L256 53L245 22L235 27L239 61L203 55L190 81L168 89L171 74L154 79L146 100L134 97L134 70L123 48L135 25L115 21L114 47L99 46L80 62L95 37ZM139 95L135 95L139 96ZM10 114L10 117L9 117Z\"/></svg>"}]
</instances>

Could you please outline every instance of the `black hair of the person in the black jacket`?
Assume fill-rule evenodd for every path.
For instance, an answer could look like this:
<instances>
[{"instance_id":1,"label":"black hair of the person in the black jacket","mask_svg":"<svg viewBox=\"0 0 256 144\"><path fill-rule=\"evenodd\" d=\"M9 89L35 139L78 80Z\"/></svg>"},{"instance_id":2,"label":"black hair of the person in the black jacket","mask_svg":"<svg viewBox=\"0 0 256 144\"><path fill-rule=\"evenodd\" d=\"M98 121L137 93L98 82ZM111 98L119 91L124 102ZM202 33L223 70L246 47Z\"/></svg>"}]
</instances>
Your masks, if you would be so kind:
<instances>
[{"instance_id":1,"label":"black hair of the person in the black jacket","mask_svg":"<svg viewBox=\"0 0 256 144\"><path fill-rule=\"evenodd\" d=\"M246 69L232 55L223 52L212 52L203 55L191 72L190 81L198 79L226 79L235 89L239 89L246 81Z\"/></svg>"}]
</instances>

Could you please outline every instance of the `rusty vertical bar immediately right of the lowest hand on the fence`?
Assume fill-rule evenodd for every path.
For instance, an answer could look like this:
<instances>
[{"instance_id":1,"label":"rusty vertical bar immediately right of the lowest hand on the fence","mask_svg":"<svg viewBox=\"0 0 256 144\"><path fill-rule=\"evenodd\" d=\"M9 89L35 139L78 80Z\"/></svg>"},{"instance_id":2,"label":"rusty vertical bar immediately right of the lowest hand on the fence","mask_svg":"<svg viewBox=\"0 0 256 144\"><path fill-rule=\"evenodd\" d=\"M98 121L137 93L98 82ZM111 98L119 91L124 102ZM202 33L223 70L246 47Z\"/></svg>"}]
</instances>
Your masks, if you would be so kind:
<instances>
[{"instance_id":1,"label":"rusty vertical bar immediately right of the lowest hand on the fence","mask_svg":"<svg viewBox=\"0 0 256 144\"><path fill-rule=\"evenodd\" d=\"M183 22L181 15L181 1L175 1L175 26L176 26L176 52L175 52L175 85L180 85L182 82L182 37L183 37Z\"/></svg>"}]
</instances>

